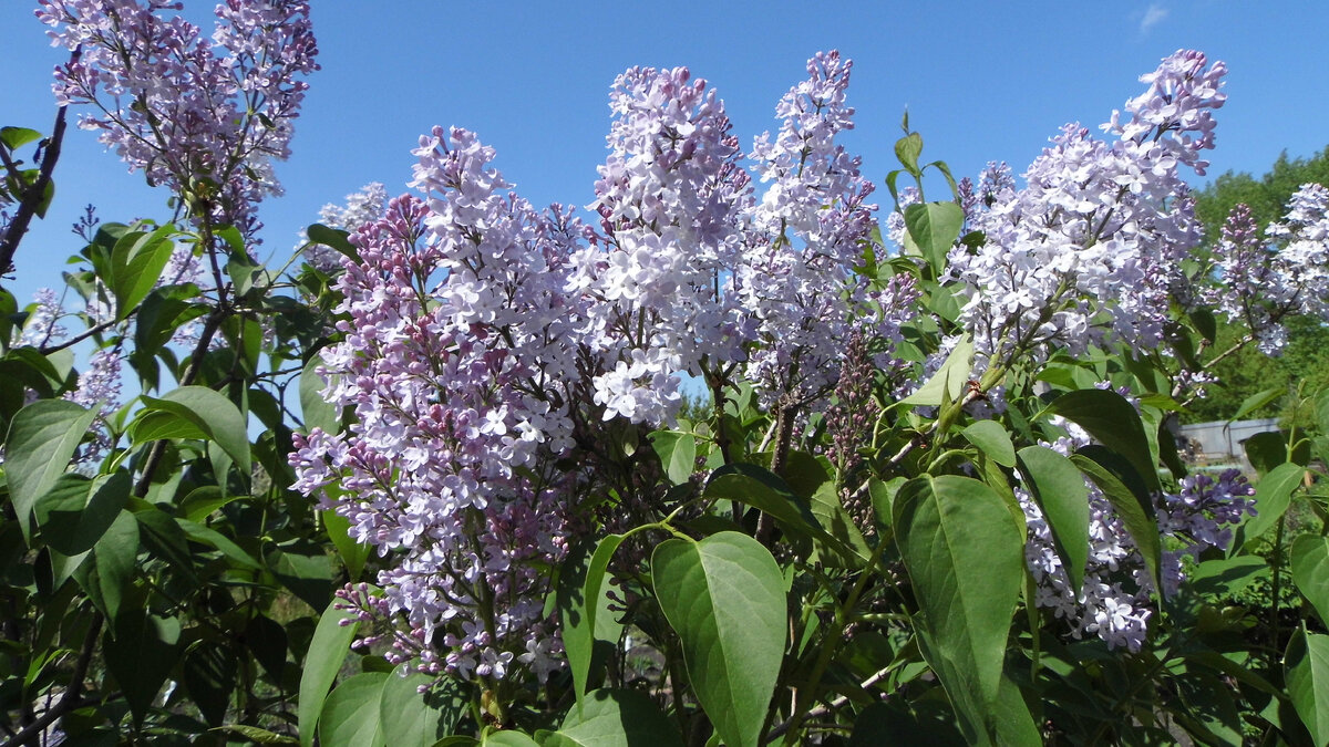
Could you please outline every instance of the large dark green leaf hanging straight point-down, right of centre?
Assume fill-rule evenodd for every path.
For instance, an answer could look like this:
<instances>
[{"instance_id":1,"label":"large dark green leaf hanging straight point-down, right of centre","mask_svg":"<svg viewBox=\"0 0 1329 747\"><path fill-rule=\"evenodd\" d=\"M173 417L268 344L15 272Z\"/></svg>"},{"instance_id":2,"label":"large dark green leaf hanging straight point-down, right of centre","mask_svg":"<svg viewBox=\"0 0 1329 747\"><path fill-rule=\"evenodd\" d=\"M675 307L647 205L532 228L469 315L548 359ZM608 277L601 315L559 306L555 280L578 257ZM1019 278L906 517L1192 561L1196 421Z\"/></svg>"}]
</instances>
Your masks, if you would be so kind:
<instances>
[{"instance_id":1,"label":"large dark green leaf hanging straight point-down, right of centre","mask_svg":"<svg viewBox=\"0 0 1329 747\"><path fill-rule=\"evenodd\" d=\"M970 743L989 735L1010 619L1025 581L1025 530L969 477L922 476L894 501L896 542L918 599L924 655Z\"/></svg>"}]
</instances>

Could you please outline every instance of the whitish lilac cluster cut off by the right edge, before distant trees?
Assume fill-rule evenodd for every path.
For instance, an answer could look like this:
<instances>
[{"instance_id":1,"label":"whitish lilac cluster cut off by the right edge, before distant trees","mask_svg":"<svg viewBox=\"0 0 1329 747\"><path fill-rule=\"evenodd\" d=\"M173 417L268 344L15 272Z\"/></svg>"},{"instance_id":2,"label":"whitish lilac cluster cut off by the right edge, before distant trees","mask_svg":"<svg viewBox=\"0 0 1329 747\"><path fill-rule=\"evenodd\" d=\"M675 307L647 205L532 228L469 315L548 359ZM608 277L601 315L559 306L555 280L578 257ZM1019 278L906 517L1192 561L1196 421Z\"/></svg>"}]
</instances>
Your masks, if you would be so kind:
<instances>
[{"instance_id":1,"label":"whitish lilac cluster cut off by the right edge, before distant trees","mask_svg":"<svg viewBox=\"0 0 1329 747\"><path fill-rule=\"evenodd\" d=\"M1265 230L1245 205L1232 209L1215 247L1223 291L1219 308L1245 324L1260 350L1277 355L1288 342L1289 315L1329 319L1329 189L1302 185L1282 221Z\"/></svg>"}]
</instances>

